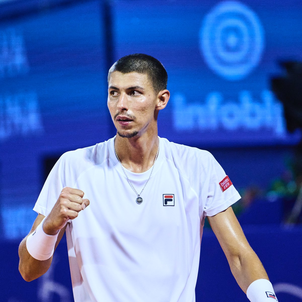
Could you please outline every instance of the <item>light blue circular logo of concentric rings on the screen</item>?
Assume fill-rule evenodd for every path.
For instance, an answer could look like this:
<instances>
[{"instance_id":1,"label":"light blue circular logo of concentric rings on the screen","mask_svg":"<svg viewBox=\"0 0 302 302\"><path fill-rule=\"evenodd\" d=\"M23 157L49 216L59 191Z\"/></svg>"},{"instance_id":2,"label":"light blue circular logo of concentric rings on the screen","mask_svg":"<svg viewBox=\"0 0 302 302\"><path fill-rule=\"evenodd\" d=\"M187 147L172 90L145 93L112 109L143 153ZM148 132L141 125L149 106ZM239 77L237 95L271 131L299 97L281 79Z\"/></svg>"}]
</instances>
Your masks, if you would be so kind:
<instances>
[{"instance_id":1,"label":"light blue circular logo of concentric rings on the screen","mask_svg":"<svg viewBox=\"0 0 302 302\"><path fill-rule=\"evenodd\" d=\"M200 48L208 66L227 80L241 80L259 63L264 33L257 15L237 1L224 1L204 19Z\"/></svg>"}]
</instances>

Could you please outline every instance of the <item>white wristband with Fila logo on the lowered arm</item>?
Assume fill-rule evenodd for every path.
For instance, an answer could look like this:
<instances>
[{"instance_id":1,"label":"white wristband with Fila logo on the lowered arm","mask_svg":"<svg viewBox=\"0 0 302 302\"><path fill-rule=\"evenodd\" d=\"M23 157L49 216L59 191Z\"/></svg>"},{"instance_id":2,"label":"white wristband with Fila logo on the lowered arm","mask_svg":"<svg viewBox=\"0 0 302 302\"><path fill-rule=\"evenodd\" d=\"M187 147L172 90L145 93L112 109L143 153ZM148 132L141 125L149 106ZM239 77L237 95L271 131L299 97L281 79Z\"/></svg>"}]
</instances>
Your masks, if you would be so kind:
<instances>
[{"instance_id":1,"label":"white wristband with Fila logo on the lowered arm","mask_svg":"<svg viewBox=\"0 0 302 302\"><path fill-rule=\"evenodd\" d=\"M247 288L246 296L251 302L278 301L271 282L266 279L258 279L252 282Z\"/></svg>"}]
</instances>

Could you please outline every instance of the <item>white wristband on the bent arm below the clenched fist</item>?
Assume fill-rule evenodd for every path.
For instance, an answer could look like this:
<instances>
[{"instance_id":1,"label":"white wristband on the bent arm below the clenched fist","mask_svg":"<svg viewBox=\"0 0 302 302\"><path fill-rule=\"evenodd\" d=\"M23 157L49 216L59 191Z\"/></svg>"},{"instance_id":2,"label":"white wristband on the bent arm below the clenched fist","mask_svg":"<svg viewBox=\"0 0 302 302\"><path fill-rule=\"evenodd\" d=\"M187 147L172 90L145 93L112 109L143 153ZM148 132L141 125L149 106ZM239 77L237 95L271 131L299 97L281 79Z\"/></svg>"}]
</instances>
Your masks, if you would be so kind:
<instances>
[{"instance_id":1,"label":"white wristband on the bent arm below the clenched fist","mask_svg":"<svg viewBox=\"0 0 302 302\"><path fill-rule=\"evenodd\" d=\"M55 235L44 233L43 222L45 218L37 226L37 229L26 239L27 251L37 260L47 260L51 257L59 235L59 231Z\"/></svg>"}]
</instances>

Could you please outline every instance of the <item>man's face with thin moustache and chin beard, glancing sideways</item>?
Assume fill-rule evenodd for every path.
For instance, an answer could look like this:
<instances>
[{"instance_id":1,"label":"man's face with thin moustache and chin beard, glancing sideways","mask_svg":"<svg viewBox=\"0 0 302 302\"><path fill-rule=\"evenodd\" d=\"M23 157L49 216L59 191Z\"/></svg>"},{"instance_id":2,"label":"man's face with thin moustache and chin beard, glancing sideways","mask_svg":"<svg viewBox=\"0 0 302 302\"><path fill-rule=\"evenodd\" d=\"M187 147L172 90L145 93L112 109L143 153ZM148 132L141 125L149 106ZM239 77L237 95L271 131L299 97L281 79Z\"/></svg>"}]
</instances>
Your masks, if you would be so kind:
<instances>
[{"instance_id":1,"label":"man's face with thin moustache and chin beard, glancing sideways","mask_svg":"<svg viewBox=\"0 0 302 302\"><path fill-rule=\"evenodd\" d=\"M121 137L142 135L154 125L157 95L146 74L112 72L108 83L108 108Z\"/></svg>"}]
</instances>

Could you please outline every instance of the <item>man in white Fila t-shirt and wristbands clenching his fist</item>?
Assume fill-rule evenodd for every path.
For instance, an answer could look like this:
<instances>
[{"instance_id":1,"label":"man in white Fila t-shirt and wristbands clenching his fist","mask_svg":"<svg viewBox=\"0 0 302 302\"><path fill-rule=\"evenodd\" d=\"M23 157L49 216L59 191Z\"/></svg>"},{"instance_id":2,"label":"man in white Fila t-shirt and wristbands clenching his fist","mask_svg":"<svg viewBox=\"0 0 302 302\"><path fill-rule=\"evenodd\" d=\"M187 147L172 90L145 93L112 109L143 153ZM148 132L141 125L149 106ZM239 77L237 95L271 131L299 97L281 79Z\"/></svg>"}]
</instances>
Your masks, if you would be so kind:
<instances>
[{"instance_id":1,"label":"man in white Fila t-shirt and wristbands clenching his fist","mask_svg":"<svg viewBox=\"0 0 302 302\"><path fill-rule=\"evenodd\" d=\"M221 166L207 151L157 135L167 78L144 54L111 67L108 108L117 135L56 163L19 247L21 275L43 275L66 231L75 302L195 301L207 216L249 299L277 300L230 207L240 196Z\"/></svg>"}]
</instances>

